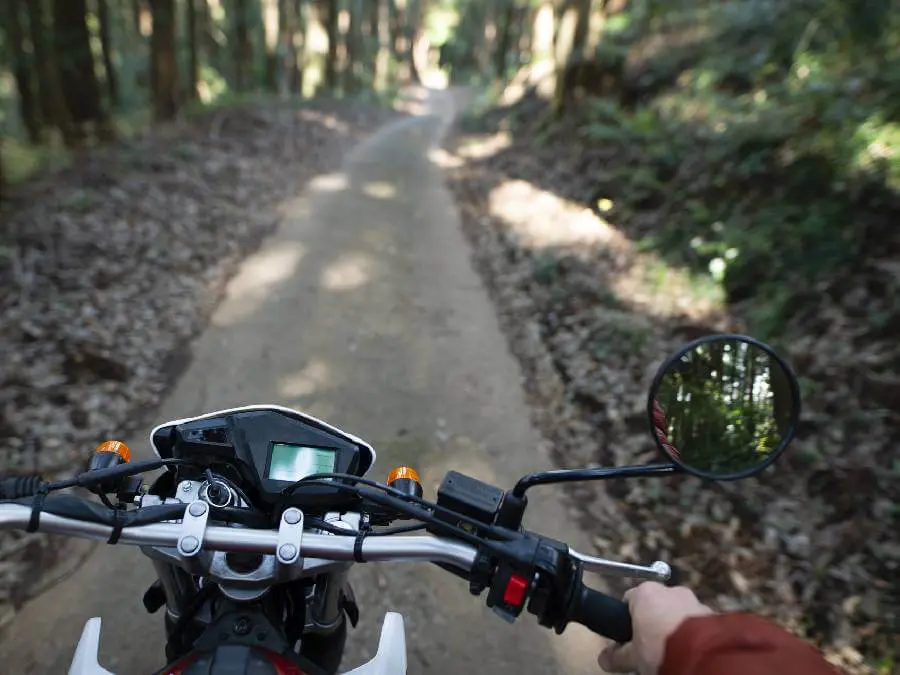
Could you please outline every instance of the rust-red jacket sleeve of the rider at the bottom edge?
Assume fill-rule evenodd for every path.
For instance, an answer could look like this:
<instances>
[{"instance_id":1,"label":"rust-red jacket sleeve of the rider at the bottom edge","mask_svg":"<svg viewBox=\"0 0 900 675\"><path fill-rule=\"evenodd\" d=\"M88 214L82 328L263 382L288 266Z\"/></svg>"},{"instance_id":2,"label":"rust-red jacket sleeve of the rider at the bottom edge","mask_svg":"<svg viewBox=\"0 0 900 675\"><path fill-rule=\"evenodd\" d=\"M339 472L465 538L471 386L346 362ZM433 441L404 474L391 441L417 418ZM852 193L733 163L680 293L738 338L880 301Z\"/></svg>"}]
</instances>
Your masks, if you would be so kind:
<instances>
[{"instance_id":1,"label":"rust-red jacket sleeve of the rider at the bottom edge","mask_svg":"<svg viewBox=\"0 0 900 675\"><path fill-rule=\"evenodd\" d=\"M659 675L839 675L803 640L753 614L686 620L669 636Z\"/></svg>"}]
</instances>

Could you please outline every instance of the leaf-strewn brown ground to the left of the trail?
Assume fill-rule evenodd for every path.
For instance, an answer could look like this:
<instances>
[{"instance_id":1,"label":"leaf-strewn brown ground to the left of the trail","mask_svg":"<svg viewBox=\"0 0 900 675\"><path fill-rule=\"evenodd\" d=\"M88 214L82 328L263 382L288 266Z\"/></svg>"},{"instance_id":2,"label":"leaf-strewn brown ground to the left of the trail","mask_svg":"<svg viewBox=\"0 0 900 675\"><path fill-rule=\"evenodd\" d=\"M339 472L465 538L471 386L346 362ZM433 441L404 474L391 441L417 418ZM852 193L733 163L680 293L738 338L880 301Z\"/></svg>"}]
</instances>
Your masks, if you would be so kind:
<instances>
[{"instance_id":1,"label":"leaf-strewn brown ground to the left of the trail","mask_svg":"<svg viewBox=\"0 0 900 675\"><path fill-rule=\"evenodd\" d=\"M86 151L0 204L0 465L45 478L131 438L278 208L394 111L219 108ZM71 549L0 536L0 626ZM68 563L67 563L68 561Z\"/></svg>"}]
</instances>

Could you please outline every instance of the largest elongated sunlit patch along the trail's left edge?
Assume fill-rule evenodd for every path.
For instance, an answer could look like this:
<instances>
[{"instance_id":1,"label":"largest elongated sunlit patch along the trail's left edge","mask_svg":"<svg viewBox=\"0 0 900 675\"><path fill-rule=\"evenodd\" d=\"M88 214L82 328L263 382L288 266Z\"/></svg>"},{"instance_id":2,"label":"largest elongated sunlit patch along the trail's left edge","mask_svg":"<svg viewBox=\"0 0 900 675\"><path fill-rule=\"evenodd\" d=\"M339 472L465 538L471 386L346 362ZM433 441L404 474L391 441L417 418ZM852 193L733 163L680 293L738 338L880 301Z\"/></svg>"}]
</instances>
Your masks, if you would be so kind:
<instances>
[{"instance_id":1,"label":"largest elongated sunlit patch along the trail's left edge","mask_svg":"<svg viewBox=\"0 0 900 675\"><path fill-rule=\"evenodd\" d=\"M215 322L231 325L247 318L260 302L269 297L274 287L290 279L306 254L297 242L283 243L278 248L262 250L247 259L237 276L228 284L226 297Z\"/></svg>"}]
</instances>

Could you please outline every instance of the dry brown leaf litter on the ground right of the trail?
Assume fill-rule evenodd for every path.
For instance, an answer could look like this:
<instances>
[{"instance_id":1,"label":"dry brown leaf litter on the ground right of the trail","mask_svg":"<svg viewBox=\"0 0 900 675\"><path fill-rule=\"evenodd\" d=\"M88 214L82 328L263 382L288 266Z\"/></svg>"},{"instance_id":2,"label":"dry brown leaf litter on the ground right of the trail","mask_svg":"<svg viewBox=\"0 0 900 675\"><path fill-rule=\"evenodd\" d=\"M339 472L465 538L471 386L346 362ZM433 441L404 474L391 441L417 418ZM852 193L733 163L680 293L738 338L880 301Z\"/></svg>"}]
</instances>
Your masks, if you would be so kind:
<instances>
[{"instance_id":1,"label":"dry brown leaf litter on the ground right of the trail","mask_svg":"<svg viewBox=\"0 0 900 675\"><path fill-rule=\"evenodd\" d=\"M651 284L627 238L599 235L596 218L593 235L576 222L584 208L563 197L590 194L587 167L615 161L602 148L489 139L508 147L478 157L476 141L456 139L454 151L469 158L451 187L553 455L563 466L652 459L653 372L688 339L746 330L739 313L696 311L687 287ZM503 208L499 195L516 203ZM582 236L569 237L575 230ZM668 560L705 600L771 616L851 673L891 672L885 659L900 653L900 462L891 443L900 349L854 319L853 307L871 300L871 278L845 286L842 305L823 297L788 331L796 341L782 348L808 391L800 440L777 470L741 484L677 478L571 490L601 554Z\"/></svg>"}]
</instances>

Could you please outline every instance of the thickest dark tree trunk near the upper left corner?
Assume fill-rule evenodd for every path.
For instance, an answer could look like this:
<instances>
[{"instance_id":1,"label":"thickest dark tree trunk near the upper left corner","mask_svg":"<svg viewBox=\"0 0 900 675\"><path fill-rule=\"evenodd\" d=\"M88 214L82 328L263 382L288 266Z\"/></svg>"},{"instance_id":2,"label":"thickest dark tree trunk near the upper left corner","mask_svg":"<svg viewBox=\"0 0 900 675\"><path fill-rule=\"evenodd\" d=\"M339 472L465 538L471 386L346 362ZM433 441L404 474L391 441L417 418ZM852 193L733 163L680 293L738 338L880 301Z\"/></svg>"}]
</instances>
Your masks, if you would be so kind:
<instances>
[{"instance_id":1,"label":"thickest dark tree trunk near the upper left corner","mask_svg":"<svg viewBox=\"0 0 900 675\"><path fill-rule=\"evenodd\" d=\"M99 129L107 118L100 100L85 12L85 0L53 0L53 38L63 95L72 118L78 125L94 122Z\"/></svg>"}]
</instances>

